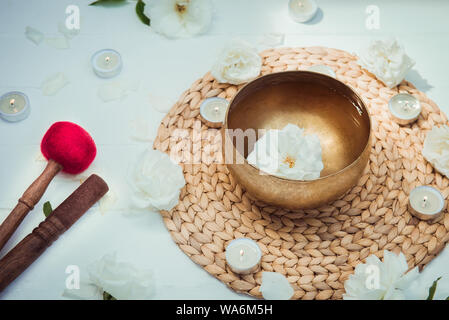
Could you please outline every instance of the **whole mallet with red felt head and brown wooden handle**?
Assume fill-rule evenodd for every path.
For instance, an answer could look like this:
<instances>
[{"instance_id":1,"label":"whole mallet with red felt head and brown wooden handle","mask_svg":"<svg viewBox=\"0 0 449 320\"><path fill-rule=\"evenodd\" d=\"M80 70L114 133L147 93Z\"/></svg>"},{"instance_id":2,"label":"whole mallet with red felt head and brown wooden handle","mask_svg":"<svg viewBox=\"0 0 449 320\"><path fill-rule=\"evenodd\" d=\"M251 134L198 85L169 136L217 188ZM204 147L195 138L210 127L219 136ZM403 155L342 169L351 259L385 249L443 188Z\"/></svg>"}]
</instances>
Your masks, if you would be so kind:
<instances>
[{"instance_id":1,"label":"whole mallet with red felt head and brown wooden handle","mask_svg":"<svg viewBox=\"0 0 449 320\"><path fill-rule=\"evenodd\" d=\"M56 122L45 133L41 151L48 160L42 174L24 192L16 207L0 225L0 250L25 216L39 202L59 171L78 174L86 170L97 154L92 137L72 122Z\"/></svg>"}]
</instances>

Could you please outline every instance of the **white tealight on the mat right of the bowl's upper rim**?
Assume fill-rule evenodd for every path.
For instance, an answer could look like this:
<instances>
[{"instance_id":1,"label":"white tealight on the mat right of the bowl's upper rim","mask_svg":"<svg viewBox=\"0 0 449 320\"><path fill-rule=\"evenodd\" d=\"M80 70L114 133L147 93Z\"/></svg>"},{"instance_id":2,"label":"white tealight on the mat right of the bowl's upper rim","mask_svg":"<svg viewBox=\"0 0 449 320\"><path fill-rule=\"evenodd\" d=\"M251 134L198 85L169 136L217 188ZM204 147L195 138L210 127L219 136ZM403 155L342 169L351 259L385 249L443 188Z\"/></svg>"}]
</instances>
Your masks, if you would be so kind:
<instances>
[{"instance_id":1,"label":"white tealight on the mat right of the bowl's upper rim","mask_svg":"<svg viewBox=\"0 0 449 320\"><path fill-rule=\"evenodd\" d=\"M418 119L421 113L419 100L408 93L399 93L388 102L388 108L397 123L405 125Z\"/></svg>"}]
</instances>

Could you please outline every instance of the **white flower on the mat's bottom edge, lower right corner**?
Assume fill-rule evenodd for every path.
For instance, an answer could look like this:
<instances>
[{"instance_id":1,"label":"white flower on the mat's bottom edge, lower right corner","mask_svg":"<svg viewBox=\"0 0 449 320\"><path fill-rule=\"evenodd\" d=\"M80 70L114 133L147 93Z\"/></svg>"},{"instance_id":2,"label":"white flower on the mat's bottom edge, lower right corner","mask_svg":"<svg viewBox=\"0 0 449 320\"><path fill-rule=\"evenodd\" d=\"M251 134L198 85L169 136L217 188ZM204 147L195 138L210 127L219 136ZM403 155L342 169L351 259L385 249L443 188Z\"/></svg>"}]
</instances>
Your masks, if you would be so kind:
<instances>
[{"instance_id":1,"label":"white flower on the mat's bottom edge, lower right corner","mask_svg":"<svg viewBox=\"0 0 449 320\"><path fill-rule=\"evenodd\" d=\"M402 300L404 290L418 277L418 268L407 272L404 254L384 251L384 262L371 255L358 264L345 282L345 300ZM406 273L407 272L407 273Z\"/></svg>"}]
</instances>

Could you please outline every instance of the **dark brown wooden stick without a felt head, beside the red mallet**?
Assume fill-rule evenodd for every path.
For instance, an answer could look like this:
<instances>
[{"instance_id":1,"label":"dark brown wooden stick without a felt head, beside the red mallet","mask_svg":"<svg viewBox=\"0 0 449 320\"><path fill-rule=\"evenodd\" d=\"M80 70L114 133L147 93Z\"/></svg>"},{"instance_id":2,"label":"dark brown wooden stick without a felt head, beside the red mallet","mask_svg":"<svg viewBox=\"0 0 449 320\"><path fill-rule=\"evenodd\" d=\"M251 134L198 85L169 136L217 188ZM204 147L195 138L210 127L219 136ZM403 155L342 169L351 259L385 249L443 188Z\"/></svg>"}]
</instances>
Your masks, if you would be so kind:
<instances>
[{"instance_id":1,"label":"dark brown wooden stick without a felt head, beside the red mallet","mask_svg":"<svg viewBox=\"0 0 449 320\"><path fill-rule=\"evenodd\" d=\"M95 202L108 192L97 175L91 175L37 228L0 260L0 292L69 229Z\"/></svg>"}]
</instances>

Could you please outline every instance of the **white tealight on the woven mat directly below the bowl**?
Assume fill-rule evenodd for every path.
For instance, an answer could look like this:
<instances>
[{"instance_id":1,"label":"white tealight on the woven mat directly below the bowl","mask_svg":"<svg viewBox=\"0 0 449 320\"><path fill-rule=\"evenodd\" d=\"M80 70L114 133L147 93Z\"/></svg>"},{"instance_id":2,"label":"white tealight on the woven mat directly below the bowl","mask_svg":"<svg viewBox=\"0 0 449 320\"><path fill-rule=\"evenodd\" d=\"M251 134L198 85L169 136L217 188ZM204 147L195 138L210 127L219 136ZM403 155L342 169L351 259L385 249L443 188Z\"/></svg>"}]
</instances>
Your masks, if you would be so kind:
<instances>
[{"instance_id":1,"label":"white tealight on the woven mat directly below the bowl","mask_svg":"<svg viewBox=\"0 0 449 320\"><path fill-rule=\"evenodd\" d=\"M254 240L241 238L228 244L225 255L226 262L233 272L249 274L259 268L262 250Z\"/></svg>"}]
</instances>

